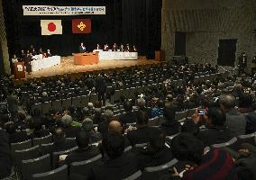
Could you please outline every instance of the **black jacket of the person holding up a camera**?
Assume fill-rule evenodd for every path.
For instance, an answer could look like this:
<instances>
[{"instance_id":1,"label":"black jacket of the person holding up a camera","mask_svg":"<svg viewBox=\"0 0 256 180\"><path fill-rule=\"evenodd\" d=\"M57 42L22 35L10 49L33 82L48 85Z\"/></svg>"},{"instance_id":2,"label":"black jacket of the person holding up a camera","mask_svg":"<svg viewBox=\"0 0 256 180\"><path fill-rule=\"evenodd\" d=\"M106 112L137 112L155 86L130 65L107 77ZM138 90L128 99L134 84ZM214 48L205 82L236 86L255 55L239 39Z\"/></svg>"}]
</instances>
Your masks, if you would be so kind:
<instances>
[{"instance_id":1,"label":"black jacket of the person holding up a camera","mask_svg":"<svg viewBox=\"0 0 256 180\"><path fill-rule=\"evenodd\" d=\"M233 134L231 130L226 129L225 127L211 127L205 130L200 130L197 138L207 147L213 144L227 142L233 138Z\"/></svg>"}]
</instances>

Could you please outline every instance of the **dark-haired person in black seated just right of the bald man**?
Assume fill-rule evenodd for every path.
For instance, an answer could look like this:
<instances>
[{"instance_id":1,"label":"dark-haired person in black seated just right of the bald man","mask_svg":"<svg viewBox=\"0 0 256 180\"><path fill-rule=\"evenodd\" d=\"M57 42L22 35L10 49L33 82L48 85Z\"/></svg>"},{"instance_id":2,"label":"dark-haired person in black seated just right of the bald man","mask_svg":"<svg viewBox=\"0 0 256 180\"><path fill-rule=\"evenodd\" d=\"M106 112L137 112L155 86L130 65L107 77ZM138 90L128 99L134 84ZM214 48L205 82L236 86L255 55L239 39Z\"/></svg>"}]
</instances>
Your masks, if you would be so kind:
<instances>
[{"instance_id":1,"label":"dark-haired person in black seated just right of the bald man","mask_svg":"<svg viewBox=\"0 0 256 180\"><path fill-rule=\"evenodd\" d=\"M127 138L130 140L132 146L135 144L148 143L157 128L150 127L148 125L149 118L147 112L138 112L136 130L128 131Z\"/></svg>"}]
</instances>

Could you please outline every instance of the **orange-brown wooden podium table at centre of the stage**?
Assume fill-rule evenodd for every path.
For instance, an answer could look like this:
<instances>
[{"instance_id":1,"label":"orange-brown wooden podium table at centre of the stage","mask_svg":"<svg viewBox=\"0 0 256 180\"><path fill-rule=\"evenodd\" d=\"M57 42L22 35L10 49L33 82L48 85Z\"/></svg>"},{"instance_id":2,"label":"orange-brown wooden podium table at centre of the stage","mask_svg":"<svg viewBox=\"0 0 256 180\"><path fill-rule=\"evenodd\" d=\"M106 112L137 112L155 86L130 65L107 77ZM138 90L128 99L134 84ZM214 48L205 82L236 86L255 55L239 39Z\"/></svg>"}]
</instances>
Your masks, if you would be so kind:
<instances>
[{"instance_id":1,"label":"orange-brown wooden podium table at centre of the stage","mask_svg":"<svg viewBox=\"0 0 256 180\"><path fill-rule=\"evenodd\" d=\"M74 55L75 65L93 65L98 63L98 53L78 53Z\"/></svg>"}]
</instances>

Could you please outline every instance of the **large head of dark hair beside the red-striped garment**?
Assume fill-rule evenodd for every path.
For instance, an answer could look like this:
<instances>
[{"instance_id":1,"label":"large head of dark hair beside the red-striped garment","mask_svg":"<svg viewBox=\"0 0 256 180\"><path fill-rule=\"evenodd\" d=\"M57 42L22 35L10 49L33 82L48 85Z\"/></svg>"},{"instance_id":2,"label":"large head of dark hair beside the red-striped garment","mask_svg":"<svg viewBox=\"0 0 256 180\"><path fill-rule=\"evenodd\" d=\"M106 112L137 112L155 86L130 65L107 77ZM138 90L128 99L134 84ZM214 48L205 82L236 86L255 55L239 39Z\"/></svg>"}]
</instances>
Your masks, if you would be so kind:
<instances>
[{"instance_id":1,"label":"large head of dark hair beside the red-striped garment","mask_svg":"<svg viewBox=\"0 0 256 180\"><path fill-rule=\"evenodd\" d=\"M192 161L199 165L204 153L204 144L195 136L182 132L171 141L174 157L181 161Z\"/></svg>"}]
</instances>

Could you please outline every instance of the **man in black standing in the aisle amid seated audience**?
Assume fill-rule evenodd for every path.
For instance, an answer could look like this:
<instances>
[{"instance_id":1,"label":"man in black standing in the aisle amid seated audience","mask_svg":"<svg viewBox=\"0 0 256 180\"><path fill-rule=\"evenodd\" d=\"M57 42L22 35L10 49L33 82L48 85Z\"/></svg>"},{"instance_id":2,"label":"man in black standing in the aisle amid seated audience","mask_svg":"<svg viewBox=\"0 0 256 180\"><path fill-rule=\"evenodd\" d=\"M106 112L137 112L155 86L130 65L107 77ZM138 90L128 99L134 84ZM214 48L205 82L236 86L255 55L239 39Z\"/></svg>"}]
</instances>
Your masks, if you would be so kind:
<instances>
[{"instance_id":1,"label":"man in black standing in the aisle amid seated audience","mask_svg":"<svg viewBox=\"0 0 256 180\"><path fill-rule=\"evenodd\" d=\"M105 90L106 90L106 83L105 83L105 74L101 73L96 76L96 92L98 94L98 101L103 101L103 105L105 106Z\"/></svg>"}]
</instances>

